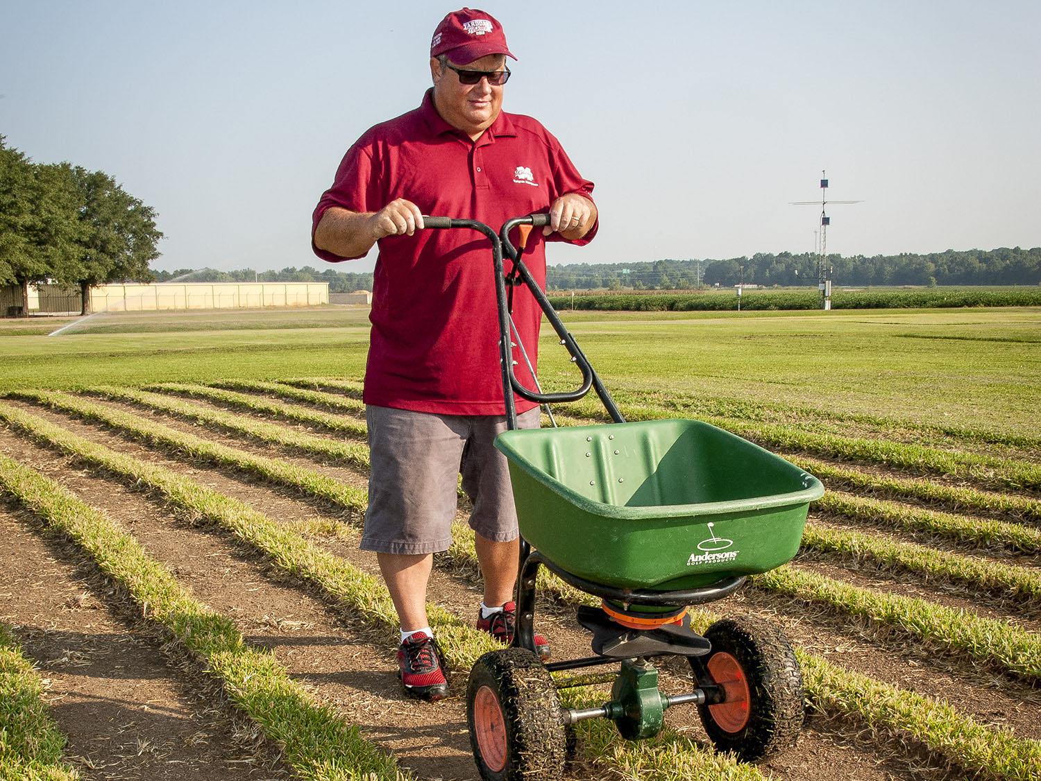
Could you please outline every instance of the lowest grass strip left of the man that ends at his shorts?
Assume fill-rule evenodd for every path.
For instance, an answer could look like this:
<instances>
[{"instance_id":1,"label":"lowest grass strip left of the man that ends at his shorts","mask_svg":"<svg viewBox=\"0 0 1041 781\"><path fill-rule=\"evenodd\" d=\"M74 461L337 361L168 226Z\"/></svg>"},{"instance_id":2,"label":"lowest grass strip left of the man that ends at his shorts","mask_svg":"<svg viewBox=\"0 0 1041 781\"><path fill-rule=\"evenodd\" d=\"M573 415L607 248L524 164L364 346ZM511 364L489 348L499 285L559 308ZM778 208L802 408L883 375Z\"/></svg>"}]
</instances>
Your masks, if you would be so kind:
<instances>
[{"instance_id":1,"label":"lowest grass strip left of the man that ends at his shorts","mask_svg":"<svg viewBox=\"0 0 1041 781\"><path fill-rule=\"evenodd\" d=\"M278 459L254 455L227 445L179 432L153 420L145 420L104 405L57 391L19 392L22 398L31 399L53 410L96 420L124 431L134 438L154 444L175 454L206 461L218 466L230 467L246 474L272 483L289 486L310 496L320 497L351 512L363 513L369 503L364 491L333 477L289 464Z\"/></svg>"}]
</instances>

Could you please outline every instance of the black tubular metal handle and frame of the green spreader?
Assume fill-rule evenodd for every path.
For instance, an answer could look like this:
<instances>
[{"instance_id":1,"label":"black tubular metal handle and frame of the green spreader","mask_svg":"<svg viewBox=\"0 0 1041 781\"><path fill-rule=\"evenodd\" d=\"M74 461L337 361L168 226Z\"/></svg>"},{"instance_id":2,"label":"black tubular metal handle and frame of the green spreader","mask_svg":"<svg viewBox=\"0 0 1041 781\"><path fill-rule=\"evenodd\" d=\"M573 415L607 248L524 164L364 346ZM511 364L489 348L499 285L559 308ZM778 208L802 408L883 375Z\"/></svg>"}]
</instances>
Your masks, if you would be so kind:
<instances>
[{"instance_id":1,"label":"black tubular metal handle and frame of the green spreader","mask_svg":"<svg viewBox=\"0 0 1041 781\"><path fill-rule=\"evenodd\" d=\"M509 234L514 228L528 225L536 228L547 226L550 224L549 214L530 214L528 216L508 219L503 224L503 227L498 235L490 227L484 223L479 223L476 219L424 216L423 223L425 228L469 228L483 234L491 242L491 257L496 274L496 303L499 310L499 346L503 376L503 399L506 409L506 422L510 431L517 427L516 407L513 401L514 392L522 398L541 405L578 401L590 390L594 390L596 395L600 397L601 402L604 405L604 408L607 410L608 415L611 417L611 420L615 423L626 422L621 412L611 398L611 394L608 392L603 382L601 382L600 376L592 367L592 364L589 363L589 359L586 358L581 347L579 347L578 342L575 341L575 337L568 333L566 327L560 320L559 315L557 315L556 310L553 308L553 305L550 304L550 300L547 297L545 293L542 292L542 289L535 281L535 278L520 259L520 251L514 248L510 241ZM504 251L505 256L508 257L513 264L512 274L516 276L516 282L513 284L523 283L531 291L532 295L535 296L535 301L538 302L538 306L541 308L542 313L545 315L550 324L553 327L553 330L560 338L560 343L567 348L567 352L572 356L572 360L576 363L579 371L582 373L582 385L578 389L559 393L539 393L525 387L516 379L516 375L513 372L510 311L506 292L507 277L503 263ZM623 602L627 605L641 604L682 606L704 604L706 602L713 602L717 599L730 596L737 591L745 580L743 576L729 577L723 578L712 585L702 589L690 589L687 591L655 592L614 589L585 580L577 575L573 575L566 570L561 569L547 558L544 554L537 550L533 550L528 541L524 539L524 536L522 536L516 585L517 616L513 645L526 648L529 651L536 651L535 581L539 566L544 566L562 580L574 585L580 591L605 599ZM581 659L572 659L569 661L552 662L547 665L547 668L549 670L574 670L583 667L592 667L595 665L617 663L617 661L618 659L614 657L591 656Z\"/></svg>"}]
</instances>

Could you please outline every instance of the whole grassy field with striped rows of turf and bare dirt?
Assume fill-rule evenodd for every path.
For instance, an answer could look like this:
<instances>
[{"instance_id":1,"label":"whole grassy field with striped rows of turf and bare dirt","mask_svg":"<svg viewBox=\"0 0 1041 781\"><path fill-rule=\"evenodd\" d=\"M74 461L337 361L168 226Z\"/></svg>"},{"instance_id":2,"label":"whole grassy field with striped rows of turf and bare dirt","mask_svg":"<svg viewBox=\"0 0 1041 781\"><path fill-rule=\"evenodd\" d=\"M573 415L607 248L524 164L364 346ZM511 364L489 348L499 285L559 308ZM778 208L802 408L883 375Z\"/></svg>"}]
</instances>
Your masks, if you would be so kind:
<instances>
[{"instance_id":1,"label":"whole grassy field with striped rows of turf and bare dirt","mask_svg":"<svg viewBox=\"0 0 1041 781\"><path fill-rule=\"evenodd\" d=\"M740 763L676 707L642 743L577 725L568 779L1041 778L1041 309L563 314L628 419L706 420L827 488L791 564L694 618L785 628L797 746ZM366 315L0 322L0 778L476 777L466 500L429 593L448 700L401 692L357 549ZM539 347L548 389L577 384ZM539 594L555 658L588 655L590 598Z\"/></svg>"}]
</instances>

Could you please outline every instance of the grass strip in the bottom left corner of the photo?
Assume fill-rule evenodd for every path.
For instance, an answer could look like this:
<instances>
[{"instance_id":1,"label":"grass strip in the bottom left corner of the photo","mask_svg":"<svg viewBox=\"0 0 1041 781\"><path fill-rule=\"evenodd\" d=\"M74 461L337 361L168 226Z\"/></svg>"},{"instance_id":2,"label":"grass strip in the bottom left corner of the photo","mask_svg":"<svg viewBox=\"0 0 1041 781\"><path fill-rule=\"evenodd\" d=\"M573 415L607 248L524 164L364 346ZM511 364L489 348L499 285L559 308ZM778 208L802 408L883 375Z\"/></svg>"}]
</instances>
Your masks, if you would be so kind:
<instances>
[{"instance_id":1,"label":"grass strip in the bottom left corner of the photo","mask_svg":"<svg viewBox=\"0 0 1041 781\"><path fill-rule=\"evenodd\" d=\"M79 778L61 759L66 737L47 712L43 695L43 680L22 654L10 628L0 623L0 778Z\"/></svg>"}]
</instances>

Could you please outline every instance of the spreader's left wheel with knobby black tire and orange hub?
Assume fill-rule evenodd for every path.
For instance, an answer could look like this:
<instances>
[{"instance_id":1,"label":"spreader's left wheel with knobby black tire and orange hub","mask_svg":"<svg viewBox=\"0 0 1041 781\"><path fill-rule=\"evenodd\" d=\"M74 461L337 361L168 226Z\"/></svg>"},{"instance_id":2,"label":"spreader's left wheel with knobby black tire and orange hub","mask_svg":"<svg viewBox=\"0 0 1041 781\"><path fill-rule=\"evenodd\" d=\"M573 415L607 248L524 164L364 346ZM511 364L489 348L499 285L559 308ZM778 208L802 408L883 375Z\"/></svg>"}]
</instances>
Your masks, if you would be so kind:
<instances>
[{"instance_id":1,"label":"spreader's left wheel with knobby black tire and orange hub","mask_svg":"<svg viewBox=\"0 0 1041 781\"><path fill-rule=\"evenodd\" d=\"M481 778L552 781L567 753L560 701L549 671L531 651L484 654L469 671L466 723Z\"/></svg>"}]
</instances>

